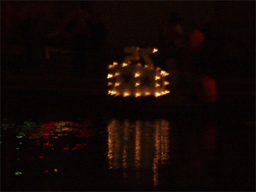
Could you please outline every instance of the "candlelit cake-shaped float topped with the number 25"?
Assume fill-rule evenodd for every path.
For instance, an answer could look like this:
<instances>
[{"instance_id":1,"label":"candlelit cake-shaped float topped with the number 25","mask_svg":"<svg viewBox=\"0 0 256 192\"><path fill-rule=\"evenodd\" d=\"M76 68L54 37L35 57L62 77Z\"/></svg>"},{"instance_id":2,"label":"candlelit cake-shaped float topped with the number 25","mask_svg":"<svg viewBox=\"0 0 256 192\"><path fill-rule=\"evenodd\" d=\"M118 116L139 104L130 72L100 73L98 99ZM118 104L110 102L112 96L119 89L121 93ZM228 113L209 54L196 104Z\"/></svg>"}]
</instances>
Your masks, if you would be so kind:
<instances>
[{"instance_id":1,"label":"candlelit cake-shaped float topped with the number 25","mask_svg":"<svg viewBox=\"0 0 256 192\"><path fill-rule=\"evenodd\" d=\"M113 62L108 67L110 73L107 75L109 80L108 94L114 96L149 96L159 97L169 94L166 89L169 84L166 81L166 76L169 75L160 67L154 67L149 54L154 54L158 50L156 48L139 48L126 47L124 52L130 54L126 56L122 64ZM142 62L144 65L142 65Z\"/></svg>"}]
</instances>

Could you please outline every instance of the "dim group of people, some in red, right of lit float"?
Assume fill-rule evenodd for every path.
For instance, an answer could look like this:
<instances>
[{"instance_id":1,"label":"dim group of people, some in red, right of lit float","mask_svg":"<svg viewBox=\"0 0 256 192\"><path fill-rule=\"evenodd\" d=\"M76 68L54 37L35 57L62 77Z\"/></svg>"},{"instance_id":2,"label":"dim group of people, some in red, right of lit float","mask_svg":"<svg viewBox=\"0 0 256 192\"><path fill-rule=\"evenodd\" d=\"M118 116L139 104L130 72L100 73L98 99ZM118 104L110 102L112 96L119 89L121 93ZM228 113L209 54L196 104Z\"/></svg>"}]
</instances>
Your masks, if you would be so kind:
<instances>
[{"instance_id":1,"label":"dim group of people, some in red, right of lit float","mask_svg":"<svg viewBox=\"0 0 256 192\"><path fill-rule=\"evenodd\" d=\"M180 89L178 83L186 79L191 98L215 102L217 84L210 74L216 70L214 65L217 66L221 45L220 35L210 18L193 22L186 36L178 14L171 12L158 28L158 65L170 72L170 89Z\"/></svg>"}]
</instances>

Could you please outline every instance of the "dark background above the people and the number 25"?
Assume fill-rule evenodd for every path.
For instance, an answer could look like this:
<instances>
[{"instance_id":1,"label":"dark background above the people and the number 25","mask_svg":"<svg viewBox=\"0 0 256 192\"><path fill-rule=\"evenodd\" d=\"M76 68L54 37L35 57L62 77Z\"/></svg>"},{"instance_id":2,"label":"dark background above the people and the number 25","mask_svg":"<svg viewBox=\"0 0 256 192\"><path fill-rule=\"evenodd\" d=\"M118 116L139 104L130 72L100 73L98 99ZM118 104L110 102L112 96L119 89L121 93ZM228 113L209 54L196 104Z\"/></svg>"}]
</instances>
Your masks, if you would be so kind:
<instances>
[{"instance_id":1,"label":"dark background above the people and the number 25","mask_svg":"<svg viewBox=\"0 0 256 192\"><path fill-rule=\"evenodd\" d=\"M227 72L254 75L254 1L2 1L2 55L26 52L19 39L21 27L30 11L35 10L41 22L38 48L42 50L38 51L38 58L44 58L46 35L66 26L79 7L102 14L109 32L106 54L110 58L122 53L124 46L158 46L158 26L171 11L182 19L186 35L191 22L210 16L225 39L221 65Z\"/></svg>"}]
</instances>

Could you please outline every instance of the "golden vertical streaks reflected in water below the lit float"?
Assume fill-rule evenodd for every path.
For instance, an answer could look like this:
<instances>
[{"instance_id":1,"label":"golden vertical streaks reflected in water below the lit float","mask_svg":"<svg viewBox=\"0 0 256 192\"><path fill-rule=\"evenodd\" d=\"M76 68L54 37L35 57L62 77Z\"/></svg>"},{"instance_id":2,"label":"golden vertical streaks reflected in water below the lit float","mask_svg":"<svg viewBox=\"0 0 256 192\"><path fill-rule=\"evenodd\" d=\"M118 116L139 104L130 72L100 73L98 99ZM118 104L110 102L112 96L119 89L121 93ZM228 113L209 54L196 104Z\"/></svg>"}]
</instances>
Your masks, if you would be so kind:
<instances>
[{"instance_id":1,"label":"golden vertical streaks reflected in water below the lit float","mask_svg":"<svg viewBox=\"0 0 256 192\"><path fill-rule=\"evenodd\" d=\"M110 169L135 170L134 183L142 182L142 170L153 172L146 183L158 186L158 167L170 158L170 124L166 120L151 122L113 119L108 125L108 159ZM137 170L137 171L136 171ZM144 178L145 179L145 178Z\"/></svg>"}]
</instances>

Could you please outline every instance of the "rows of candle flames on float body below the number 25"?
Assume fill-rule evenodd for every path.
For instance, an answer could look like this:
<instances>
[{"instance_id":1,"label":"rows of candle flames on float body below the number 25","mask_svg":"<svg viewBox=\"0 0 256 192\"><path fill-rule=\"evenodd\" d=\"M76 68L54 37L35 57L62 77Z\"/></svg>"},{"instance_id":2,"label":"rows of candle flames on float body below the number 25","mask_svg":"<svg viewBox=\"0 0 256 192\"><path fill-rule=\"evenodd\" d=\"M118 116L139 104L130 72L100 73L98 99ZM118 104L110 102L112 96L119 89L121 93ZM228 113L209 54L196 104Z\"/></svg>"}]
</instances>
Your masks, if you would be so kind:
<instances>
[{"instance_id":1,"label":"rows of candle flames on float body below the number 25","mask_svg":"<svg viewBox=\"0 0 256 192\"><path fill-rule=\"evenodd\" d=\"M166 86L169 84L166 81L166 76L169 73L159 67L154 70L148 65L143 67L142 63L130 65L130 63L122 62L122 65L118 65L118 62L113 62L108 68L110 69L110 74L107 75L108 86L110 86L108 94L110 95L137 98L148 95L159 97L170 93L169 90L166 90ZM124 81L122 74L130 75L130 81ZM142 77L149 78L152 83L142 86Z\"/></svg>"}]
</instances>

